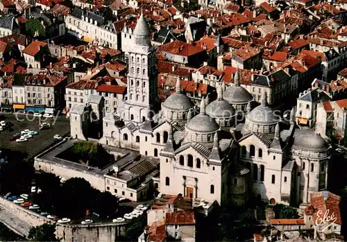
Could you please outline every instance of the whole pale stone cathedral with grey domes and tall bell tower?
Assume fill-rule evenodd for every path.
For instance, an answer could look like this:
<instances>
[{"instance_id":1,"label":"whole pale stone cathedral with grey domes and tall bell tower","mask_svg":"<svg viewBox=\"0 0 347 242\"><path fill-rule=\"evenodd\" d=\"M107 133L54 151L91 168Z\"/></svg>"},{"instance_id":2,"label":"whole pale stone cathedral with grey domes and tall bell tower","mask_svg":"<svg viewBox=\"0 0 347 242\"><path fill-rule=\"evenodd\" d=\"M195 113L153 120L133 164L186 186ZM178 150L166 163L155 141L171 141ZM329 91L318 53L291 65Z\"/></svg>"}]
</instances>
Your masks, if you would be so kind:
<instances>
[{"instance_id":1,"label":"whole pale stone cathedral with grey domes and tall bell tower","mask_svg":"<svg viewBox=\"0 0 347 242\"><path fill-rule=\"evenodd\" d=\"M331 148L314 130L298 129L239 83L217 86L217 99L194 105L176 92L158 101L158 73L149 26L141 15L128 60L127 96L117 116L102 119L101 144L139 150L160 160L161 193L219 204L249 199L306 205L327 189ZM241 117L241 118L240 118ZM82 127L82 126L81 126Z\"/></svg>"}]
</instances>

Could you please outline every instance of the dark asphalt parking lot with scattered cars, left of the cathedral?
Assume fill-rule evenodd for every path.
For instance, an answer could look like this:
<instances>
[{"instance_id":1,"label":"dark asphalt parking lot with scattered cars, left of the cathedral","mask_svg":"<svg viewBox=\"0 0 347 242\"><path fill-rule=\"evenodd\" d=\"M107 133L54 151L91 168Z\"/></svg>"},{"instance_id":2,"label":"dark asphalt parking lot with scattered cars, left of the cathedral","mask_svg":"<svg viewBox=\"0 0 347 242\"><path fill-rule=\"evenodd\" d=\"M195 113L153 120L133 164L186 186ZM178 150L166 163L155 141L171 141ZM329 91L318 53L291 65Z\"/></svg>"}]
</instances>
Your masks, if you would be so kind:
<instances>
[{"instance_id":1,"label":"dark asphalt parking lot with scattered cars, left of the cathedral","mask_svg":"<svg viewBox=\"0 0 347 242\"><path fill-rule=\"evenodd\" d=\"M18 121L17 118L24 121ZM39 130L40 119L42 122L51 123L52 127L48 130ZM32 159L37 153L40 153L44 148L53 144L55 142L55 139L53 139L54 135L64 136L70 129L69 119L65 118L65 116L59 116L56 123L53 123L53 119L33 117L32 115L16 117L15 114L5 114L5 121L10 121L13 123L13 126L10 129L0 131L0 148L8 148L27 153L27 159ZM39 135L35 135L28 139L28 141L22 143L8 139L8 137L26 129L38 131Z\"/></svg>"}]
</instances>

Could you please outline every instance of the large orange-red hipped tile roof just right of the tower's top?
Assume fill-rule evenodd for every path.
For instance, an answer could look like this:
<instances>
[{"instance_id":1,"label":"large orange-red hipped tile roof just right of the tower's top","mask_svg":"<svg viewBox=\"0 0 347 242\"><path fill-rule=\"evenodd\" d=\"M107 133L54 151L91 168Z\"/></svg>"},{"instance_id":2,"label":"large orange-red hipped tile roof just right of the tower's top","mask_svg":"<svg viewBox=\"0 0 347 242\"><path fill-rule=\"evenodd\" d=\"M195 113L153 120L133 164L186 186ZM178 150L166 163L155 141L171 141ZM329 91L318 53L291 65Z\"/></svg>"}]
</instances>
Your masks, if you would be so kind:
<instances>
[{"instance_id":1,"label":"large orange-red hipped tile roof just right of the tower's top","mask_svg":"<svg viewBox=\"0 0 347 242\"><path fill-rule=\"evenodd\" d=\"M186 42L176 40L174 42L163 44L159 47L160 51L171 53L173 55L190 56L201 53L204 50L198 46L187 44Z\"/></svg>"}]
</instances>

